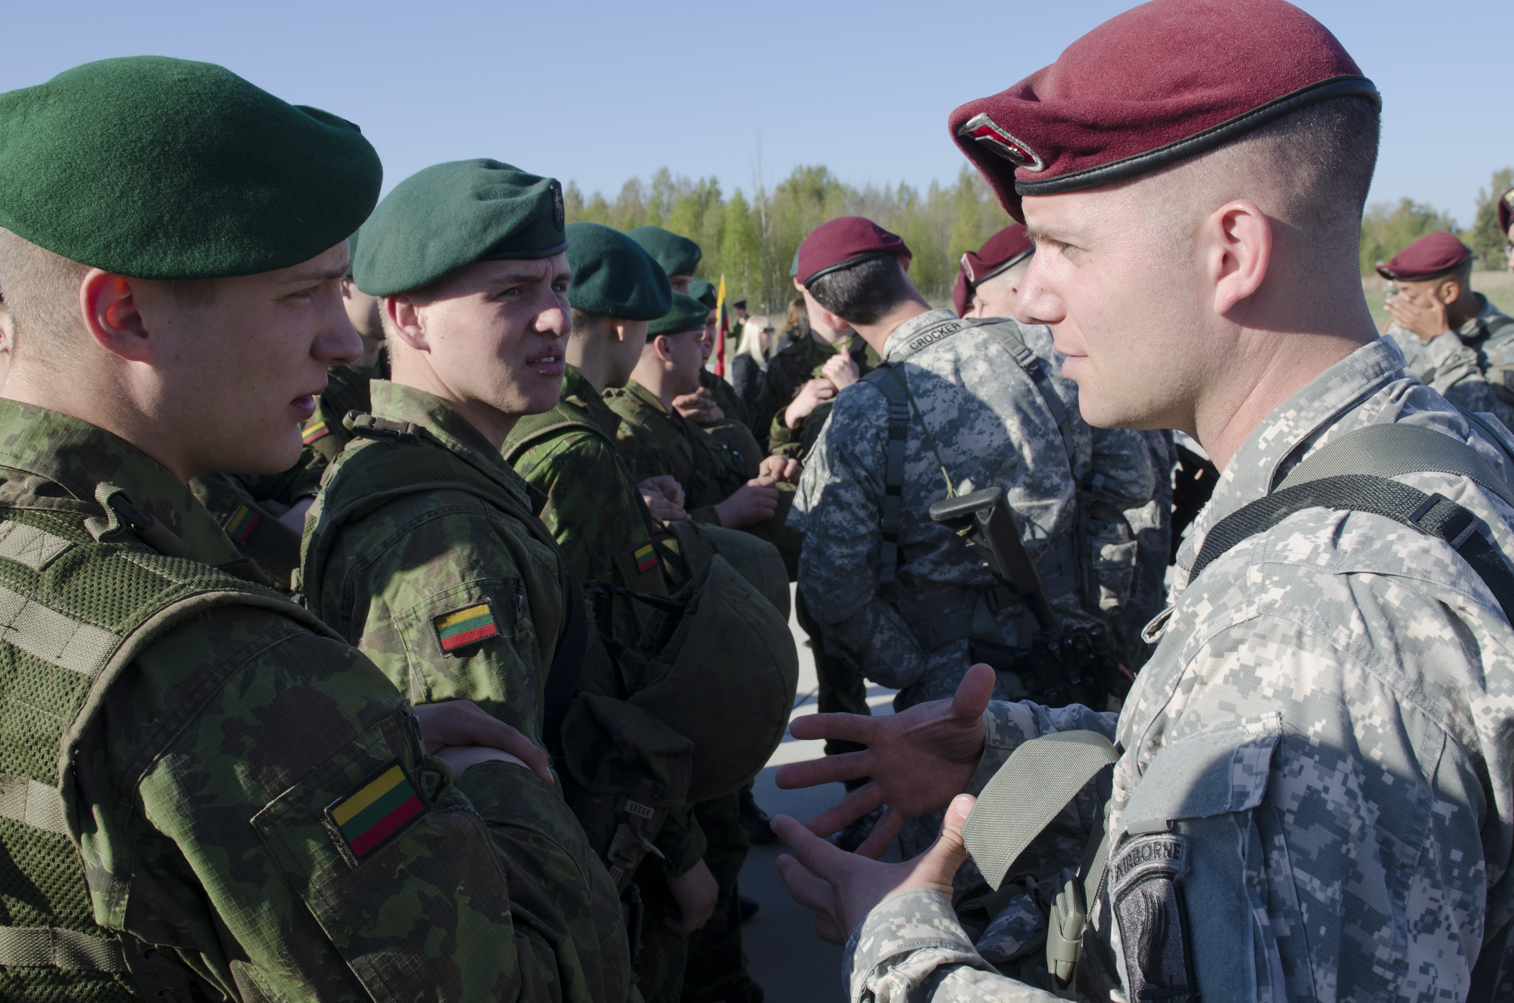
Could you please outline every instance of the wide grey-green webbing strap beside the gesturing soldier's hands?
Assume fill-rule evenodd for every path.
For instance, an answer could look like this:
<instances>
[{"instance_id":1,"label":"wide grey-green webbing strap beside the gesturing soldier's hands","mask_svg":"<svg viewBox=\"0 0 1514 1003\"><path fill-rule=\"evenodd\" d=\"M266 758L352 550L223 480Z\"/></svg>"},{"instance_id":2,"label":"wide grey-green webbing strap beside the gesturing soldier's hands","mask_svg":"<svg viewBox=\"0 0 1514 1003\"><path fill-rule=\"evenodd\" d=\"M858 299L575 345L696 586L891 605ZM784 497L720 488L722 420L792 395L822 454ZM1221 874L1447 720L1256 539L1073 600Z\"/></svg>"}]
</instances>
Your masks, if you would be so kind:
<instances>
[{"instance_id":1,"label":"wide grey-green webbing strap beside the gesturing soldier's hands","mask_svg":"<svg viewBox=\"0 0 1514 1003\"><path fill-rule=\"evenodd\" d=\"M1025 847L1116 759L1114 745L1098 732L1055 732L1010 753L961 827L984 880L998 891Z\"/></svg>"}]
</instances>

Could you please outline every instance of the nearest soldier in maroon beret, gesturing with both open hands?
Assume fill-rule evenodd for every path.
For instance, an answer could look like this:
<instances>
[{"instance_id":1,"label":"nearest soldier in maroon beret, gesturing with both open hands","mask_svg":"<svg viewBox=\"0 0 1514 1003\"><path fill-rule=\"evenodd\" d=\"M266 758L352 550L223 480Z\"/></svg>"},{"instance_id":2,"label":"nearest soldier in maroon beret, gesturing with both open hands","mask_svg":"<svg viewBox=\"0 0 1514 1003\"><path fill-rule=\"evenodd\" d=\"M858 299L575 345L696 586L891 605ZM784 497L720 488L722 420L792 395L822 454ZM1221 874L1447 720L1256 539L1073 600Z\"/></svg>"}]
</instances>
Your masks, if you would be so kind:
<instances>
[{"instance_id":1,"label":"nearest soldier in maroon beret, gesturing with both open hands","mask_svg":"<svg viewBox=\"0 0 1514 1003\"><path fill-rule=\"evenodd\" d=\"M1379 108L1288 3L1155 0L951 115L1036 241L1016 318L1051 326L1083 415L1181 429L1223 473L1117 717L993 703L980 665L951 700L790 726L869 747L780 771L872 779L813 829L946 811L896 865L774 820L852 1000L1514 995L1508 432L1376 335ZM969 848L998 891L958 918Z\"/></svg>"}]
</instances>

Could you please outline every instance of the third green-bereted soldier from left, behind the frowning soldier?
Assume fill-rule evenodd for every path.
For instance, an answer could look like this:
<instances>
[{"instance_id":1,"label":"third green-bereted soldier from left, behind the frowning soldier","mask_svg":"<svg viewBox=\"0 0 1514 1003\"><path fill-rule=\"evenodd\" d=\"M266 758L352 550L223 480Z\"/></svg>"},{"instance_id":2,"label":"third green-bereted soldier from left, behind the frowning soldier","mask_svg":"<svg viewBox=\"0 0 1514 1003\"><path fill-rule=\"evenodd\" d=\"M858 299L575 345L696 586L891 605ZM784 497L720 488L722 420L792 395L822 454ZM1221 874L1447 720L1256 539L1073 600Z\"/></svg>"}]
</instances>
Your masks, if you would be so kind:
<instances>
[{"instance_id":1,"label":"third green-bereted soldier from left, behind the frowning soldier","mask_svg":"<svg viewBox=\"0 0 1514 1003\"><path fill-rule=\"evenodd\" d=\"M646 341L646 323L668 312L672 291L662 267L624 233L595 223L572 223L568 264L572 283L572 333L557 406L522 418L506 441L504 456L545 498L542 521L551 529L574 571L584 580L610 582L642 594L668 595L657 532L643 495L660 518L686 520L683 489L662 476L637 485L615 445L619 418L601 400L610 386L625 386ZM625 642L643 627L646 606L627 595L607 595L610 630ZM610 673L580 677L580 689L622 697ZM584 806L590 832L595 808ZM581 803L581 801L575 801ZM650 1001L680 998L687 936L709 921L718 886L702 861L704 833L692 806L669 814L654 839L657 856L643 858L634 882L646 909L636 953L637 988Z\"/></svg>"}]
</instances>

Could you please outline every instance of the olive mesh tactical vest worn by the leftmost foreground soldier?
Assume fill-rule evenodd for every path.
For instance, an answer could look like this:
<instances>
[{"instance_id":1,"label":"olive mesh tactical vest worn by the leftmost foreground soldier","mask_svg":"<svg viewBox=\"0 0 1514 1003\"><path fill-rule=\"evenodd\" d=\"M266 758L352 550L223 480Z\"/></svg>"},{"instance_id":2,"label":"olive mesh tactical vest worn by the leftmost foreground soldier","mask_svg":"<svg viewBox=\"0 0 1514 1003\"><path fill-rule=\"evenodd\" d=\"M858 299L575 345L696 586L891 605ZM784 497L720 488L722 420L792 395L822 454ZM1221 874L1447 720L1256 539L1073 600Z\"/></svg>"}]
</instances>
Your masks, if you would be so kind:
<instances>
[{"instance_id":1,"label":"olive mesh tactical vest worn by the leftmost foreground soldier","mask_svg":"<svg viewBox=\"0 0 1514 1003\"><path fill-rule=\"evenodd\" d=\"M185 558L167 527L107 483L95 506L20 498L0 506L0 998L129 1000L186 989L124 932L130 859L85 865L83 838L124 830L82 798L76 756L106 692L165 630L223 606L257 606L327 636L273 589ZM144 545L147 544L151 545ZM238 568L244 570L245 568ZM115 870L111 870L111 868Z\"/></svg>"}]
</instances>

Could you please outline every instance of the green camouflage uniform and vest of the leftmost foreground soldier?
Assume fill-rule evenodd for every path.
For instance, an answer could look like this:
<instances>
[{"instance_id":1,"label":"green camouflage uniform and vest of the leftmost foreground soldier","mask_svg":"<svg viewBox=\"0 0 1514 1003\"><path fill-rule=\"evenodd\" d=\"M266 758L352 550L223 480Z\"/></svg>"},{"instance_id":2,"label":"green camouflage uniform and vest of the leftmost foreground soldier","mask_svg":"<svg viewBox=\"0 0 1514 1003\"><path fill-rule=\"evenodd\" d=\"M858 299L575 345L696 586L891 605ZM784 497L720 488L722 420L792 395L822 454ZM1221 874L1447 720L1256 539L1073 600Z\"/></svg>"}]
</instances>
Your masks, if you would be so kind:
<instances>
[{"instance_id":1,"label":"green camouflage uniform and vest of the leftmost foreground soldier","mask_svg":"<svg viewBox=\"0 0 1514 1003\"><path fill-rule=\"evenodd\" d=\"M0 427L0 998L625 998L545 782L424 758L372 662L235 577L130 444L9 400ZM377 839L344 808L380 782L412 797L372 801Z\"/></svg>"}]
</instances>

